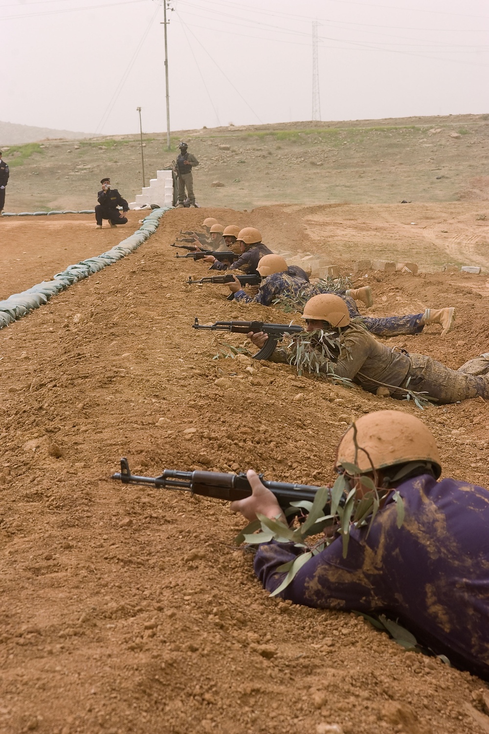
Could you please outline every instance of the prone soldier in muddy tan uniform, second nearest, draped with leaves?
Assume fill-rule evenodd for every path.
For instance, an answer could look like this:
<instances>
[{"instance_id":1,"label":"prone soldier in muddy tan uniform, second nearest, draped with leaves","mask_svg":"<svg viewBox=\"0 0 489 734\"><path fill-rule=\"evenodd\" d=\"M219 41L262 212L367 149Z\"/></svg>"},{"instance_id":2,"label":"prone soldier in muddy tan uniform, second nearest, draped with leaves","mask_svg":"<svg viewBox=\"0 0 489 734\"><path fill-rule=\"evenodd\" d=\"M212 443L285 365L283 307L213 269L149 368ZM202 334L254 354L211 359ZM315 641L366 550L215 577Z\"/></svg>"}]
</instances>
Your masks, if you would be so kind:
<instances>
[{"instance_id":1,"label":"prone soldier in muddy tan uniform, second nearest, draped with leaves","mask_svg":"<svg viewBox=\"0 0 489 734\"><path fill-rule=\"evenodd\" d=\"M339 354L335 360L321 359L320 372L329 377L351 379L356 385L376 393L387 388L393 398L406 396L406 388L438 401L439 404L481 396L489 399L489 352L468 360L457 370L449 369L432 357L397 352L380 344L372 334L352 324L348 306L339 296L320 294L312 297L304 307L306 331L333 331L339 337ZM248 335L253 344L263 346L267 335L260 332ZM317 345L320 346L320 335ZM274 362L289 362L290 349L276 349ZM319 356L319 355L318 355Z\"/></svg>"}]
</instances>

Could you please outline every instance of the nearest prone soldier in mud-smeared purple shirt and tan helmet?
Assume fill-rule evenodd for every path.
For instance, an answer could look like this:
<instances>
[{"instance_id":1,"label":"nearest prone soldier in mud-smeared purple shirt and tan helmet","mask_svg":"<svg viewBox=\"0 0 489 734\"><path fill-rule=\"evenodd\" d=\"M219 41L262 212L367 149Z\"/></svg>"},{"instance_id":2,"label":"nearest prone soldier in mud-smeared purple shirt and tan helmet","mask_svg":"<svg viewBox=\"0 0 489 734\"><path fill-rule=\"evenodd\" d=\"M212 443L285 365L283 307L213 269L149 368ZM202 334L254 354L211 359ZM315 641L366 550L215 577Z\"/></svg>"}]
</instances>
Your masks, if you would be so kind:
<instances>
[{"instance_id":1,"label":"nearest prone soldier in mud-smeared purple shirt and tan helmet","mask_svg":"<svg viewBox=\"0 0 489 734\"><path fill-rule=\"evenodd\" d=\"M352 465L359 474L353 475ZM357 498L377 487L380 509L367 525L302 565L279 596L295 604L382 613L399 620L419 644L474 675L489 677L489 492L470 482L438 478L435 439L419 418L400 410L362 415L339 442L335 469ZM231 509L285 522L282 509L254 471L253 494ZM397 524L394 492L404 505ZM303 549L293 542L259 546L254 571L273 592L287 575L282 564Z\"/></svg>"}]
</instances>

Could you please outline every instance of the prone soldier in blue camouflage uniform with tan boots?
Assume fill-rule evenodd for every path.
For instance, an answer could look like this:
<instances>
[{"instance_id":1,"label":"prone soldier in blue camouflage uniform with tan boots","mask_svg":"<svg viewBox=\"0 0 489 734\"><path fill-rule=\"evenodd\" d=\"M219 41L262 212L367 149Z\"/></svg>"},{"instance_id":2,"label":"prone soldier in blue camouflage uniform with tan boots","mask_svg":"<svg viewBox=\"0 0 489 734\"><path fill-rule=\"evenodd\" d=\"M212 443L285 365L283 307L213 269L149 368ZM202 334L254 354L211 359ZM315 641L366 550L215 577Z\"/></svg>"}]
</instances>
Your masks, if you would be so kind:
<instances>
[{"instance_id":1,"label":"prone soldier in blue camouflage uniform with tan boots","mask_svg":"<svg viewBox=\"0 0 489 734\"><path fill-rule=\"evenodd\" d=\"M243 291L238 280L229 283L229 289L235 294L235 300L245 303L259 303L262 306L270 306L290 302L290 304L301 308L313 296L320 293L334 293L342 298L350 312L350 318L360 323L367 331L378 336L397 336L401 334L419 334L426 324L441 324L442 335L446 334L455 320L454 308L442 308L434 311L429 308L423 313L408 316L385 316L374 318L362 316L356 306L352 294L367 302L371 294L370 288L357 288L349 291L334 291L327 286L314 286L309 283L304 270L298 266L290 266L280 255L265 255L257 266L260 275L266 277L262 282L257 295L251 298ZM371 301L370 301L371 302Z\"/></svg>"}]
</instances>

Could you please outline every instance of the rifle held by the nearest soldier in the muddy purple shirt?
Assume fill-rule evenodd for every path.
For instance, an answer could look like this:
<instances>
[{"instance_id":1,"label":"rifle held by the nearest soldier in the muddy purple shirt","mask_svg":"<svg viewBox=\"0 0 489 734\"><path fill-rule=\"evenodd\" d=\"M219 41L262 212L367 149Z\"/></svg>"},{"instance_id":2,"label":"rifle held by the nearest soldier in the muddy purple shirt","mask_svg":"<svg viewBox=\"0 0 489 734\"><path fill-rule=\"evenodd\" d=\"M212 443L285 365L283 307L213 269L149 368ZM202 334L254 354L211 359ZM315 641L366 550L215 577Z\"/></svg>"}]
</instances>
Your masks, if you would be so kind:
<instances>
[{"instance_id":1,"label":"rifle held by the nearest soldier in the muddy purple shirt","mask_svg":"<svg viewBox=\"0 0 489 734\"><path fill-rule=\"evenodd\" d=\"M160 476L136 476L130 473L129 462L125 457L120 460L120 472L112 474L112 479L120 479L122 484L151 484L157 489L184 490L193 495L213 497L219 500L232 502L242 500L251 495L251 485L246 474L226 474L217 471L179 471L164 469ZM307 500L314 501L320 487L309 484L288 484L287 482L269 482L260 480L276 496L282 509L287 509L291 502ZM325 515L329 515L326 512ZM302 510L302 512L307 512ZM288 514L288 513L287 513Z\"/></svg>"}]
</instances>

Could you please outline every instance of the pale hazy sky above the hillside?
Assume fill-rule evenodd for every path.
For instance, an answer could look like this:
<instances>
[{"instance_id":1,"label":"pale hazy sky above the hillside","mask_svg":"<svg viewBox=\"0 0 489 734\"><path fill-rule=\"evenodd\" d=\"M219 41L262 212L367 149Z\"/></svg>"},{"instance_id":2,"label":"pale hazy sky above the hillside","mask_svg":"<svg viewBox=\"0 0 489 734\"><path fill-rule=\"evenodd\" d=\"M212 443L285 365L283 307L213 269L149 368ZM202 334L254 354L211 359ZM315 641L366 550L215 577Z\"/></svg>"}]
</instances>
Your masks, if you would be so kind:
<instances>
[{"instance_id":1,"label":"pale hazy sky above the hillside","mask_svg":"<svg viewBox=\"0 0 489 734\"><path fill-rule=\"evenodd\" d=\"M170 0L172 130L489 112L487 0ZM410 7L411 6L411 7ZM0 120L166 131L161 0L0 0Z\"/></svg>"}]
</instances>

